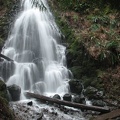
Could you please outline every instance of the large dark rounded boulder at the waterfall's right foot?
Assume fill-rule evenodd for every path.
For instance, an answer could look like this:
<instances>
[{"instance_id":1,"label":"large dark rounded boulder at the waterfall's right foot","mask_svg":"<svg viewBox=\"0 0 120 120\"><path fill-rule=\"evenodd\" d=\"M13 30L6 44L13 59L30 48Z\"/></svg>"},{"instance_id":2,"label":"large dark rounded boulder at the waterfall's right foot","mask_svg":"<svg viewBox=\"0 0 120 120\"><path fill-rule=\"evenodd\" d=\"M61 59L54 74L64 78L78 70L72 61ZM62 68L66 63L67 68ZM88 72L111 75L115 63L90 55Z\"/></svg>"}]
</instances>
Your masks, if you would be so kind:
<instances>
[{"instance_id":1,"label":"large dark rounded boulder at the waterfall's right foot","mask_svg":"<svg viewBox=\"0 0 120 120\"><path fill-rule=\"evenodd\" d=\"M69 85L70 85L70 91L72 93L81 94L83 87L79 80L75 80L75 79L70 80Z\"/></svg>"}]
</instances>

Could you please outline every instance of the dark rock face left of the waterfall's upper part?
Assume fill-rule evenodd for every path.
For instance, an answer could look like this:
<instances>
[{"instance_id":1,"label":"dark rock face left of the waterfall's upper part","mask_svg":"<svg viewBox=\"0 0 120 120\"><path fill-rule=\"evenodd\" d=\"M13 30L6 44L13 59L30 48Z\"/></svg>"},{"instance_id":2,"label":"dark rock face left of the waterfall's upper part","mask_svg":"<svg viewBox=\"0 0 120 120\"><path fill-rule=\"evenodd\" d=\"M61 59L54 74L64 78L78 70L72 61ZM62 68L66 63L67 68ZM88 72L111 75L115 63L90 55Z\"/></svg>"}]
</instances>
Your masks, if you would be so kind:
<instances>
[{"instance_id":1,"label":"dark rock face left of the waterfall's upper part","mask_svg":"<svg viewBox=\"0 0 120 120\"><path fill-rule=\"evenodd\" d=\"M16 13L19 11L20 0L0 1L0 51L9 34Z\"/></svg>"}]
</instances>

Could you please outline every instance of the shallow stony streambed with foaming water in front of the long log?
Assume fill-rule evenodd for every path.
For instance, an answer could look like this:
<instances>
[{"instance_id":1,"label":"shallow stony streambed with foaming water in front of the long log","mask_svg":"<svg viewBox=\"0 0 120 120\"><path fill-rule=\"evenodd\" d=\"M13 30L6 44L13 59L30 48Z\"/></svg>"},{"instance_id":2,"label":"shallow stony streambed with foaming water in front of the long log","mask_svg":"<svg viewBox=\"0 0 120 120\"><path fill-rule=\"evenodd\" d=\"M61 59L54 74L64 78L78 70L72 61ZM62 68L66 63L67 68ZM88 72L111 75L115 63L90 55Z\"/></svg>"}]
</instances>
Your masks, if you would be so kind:
<instances>
[{"instance_id":1,"label":"shallow stony streambed with foaming water in front of the long log","mask_svg":"<svg viewBox=\"0 0 120 120\"><path fill-rule=\"evenodd\" d=\"M87 120L78 109L41 104L35 100L11 102L10 107L16 120Z\"/></svg>"}]
</instances>

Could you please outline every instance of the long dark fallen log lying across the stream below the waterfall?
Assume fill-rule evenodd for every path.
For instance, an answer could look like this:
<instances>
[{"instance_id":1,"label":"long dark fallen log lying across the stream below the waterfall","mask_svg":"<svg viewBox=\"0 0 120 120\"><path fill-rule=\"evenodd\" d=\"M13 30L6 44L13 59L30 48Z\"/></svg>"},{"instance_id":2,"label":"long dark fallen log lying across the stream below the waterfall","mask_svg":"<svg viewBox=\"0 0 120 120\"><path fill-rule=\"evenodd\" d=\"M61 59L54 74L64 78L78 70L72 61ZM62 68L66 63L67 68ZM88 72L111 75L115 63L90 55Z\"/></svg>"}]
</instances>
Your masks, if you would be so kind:
<instances>
[{"instance_id":1,"label":"long dark fallen log lying across the stream below the waterfall","mask_svg":"<svg viewBox=\"0 0 120 120\"><path fill-rule=\"evenodd\" d=\"M54 98L46 97L46 96L35 94L35 93L25 92L25 95L28 96L28 97L33 97L33 98L42 100L42 101L57 103L59 105L65 105L65 106L69 106L69 107L79 108L79 109L82 109L82 110L92 110L92 111L98 111L98 112L102 112L102 113L108 113L109 112L109 109L106 109L106 108L103 108L103 107L89 106L89 105L84 105L84 104L68 102L68 101L54 99Z\"/></svg>"}]
</instances>

